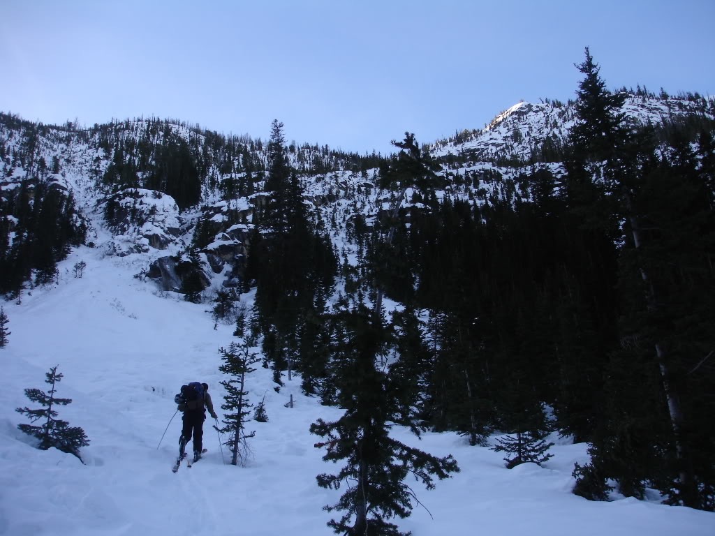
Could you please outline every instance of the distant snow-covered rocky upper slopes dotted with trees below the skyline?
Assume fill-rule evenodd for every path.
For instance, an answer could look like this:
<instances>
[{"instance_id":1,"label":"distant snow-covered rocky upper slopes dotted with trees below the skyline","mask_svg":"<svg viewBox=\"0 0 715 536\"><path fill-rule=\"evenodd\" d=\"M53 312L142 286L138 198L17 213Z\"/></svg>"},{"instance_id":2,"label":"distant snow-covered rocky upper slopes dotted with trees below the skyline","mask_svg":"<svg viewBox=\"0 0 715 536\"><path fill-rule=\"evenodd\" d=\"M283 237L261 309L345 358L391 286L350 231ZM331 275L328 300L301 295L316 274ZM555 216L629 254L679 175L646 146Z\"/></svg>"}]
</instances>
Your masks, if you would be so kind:
<instances>
[{"instance_id":1,"label":"distant snow-covered rocky upper slopes dotted with trees below the skyline","mask_svg":"<svg viewBox=\"0 0 715 536\"><path fill-rule=\"evenodd\" d=\"M623 111L633 123L659 124L684 114L713 116L714 102L633 94L626 99ZM517 177L543 167L556 176L561 174L558 158L573 116L570 102L521 102L495 116L484 129L464 131L452 139L429 144L430 153L442 164L441 173L447 179L447 186L436 192L437 197L448 195L479 204L495 199L528 199L528 192L516 188ZM107 183L112 177L119 181L117 169L126 164L136 172L134 181L141 187L151 174L146 170L156 171L157 159L166 149L164 143L185 144L200 170L200 199L192 210L179 211L174 201L184 205L170 195L159 202L161 194L140 188L143 199L138 199L135 194L125 195L126 191L114 192L112 187L116 184ZM71 124L31 124L1 114L0 192L16 189L26 177L54 177L72 192L79 209L92 219L88 242L108 254L148 252L149 248L169 249L165 254L171 254L169 242L177 249L190 242L202 214L198 207L204 207L203 212L217 223L217 235L226 230L221 222L227 222L225 214L230 210L240 212L242 220L227 222L226 228L232 223L250 223L252 208L262 200L265 149L260 140L222 137L177 121L137 119L79 129ZM327 229L332 227L336 236L344 234L345 223L355 215L374 216L385 202L393 201L395 192L380 192L376 187L376 170L365 169L376 166L378 159L360 160L356 155L333 152L327 145L309 144L291 144L287 157L300 176L307 200L315 207L316 217L322 218ZM113 166L116 177L107 174ZM255 192L239 194L237 184L247 189L247 182ZM236 192L230 203L225 200L227 184ZM143 217L131 222L106 222L104 212L110 199L128 209L144 205ZM152 207L153 212L147 212ZM104 233L108 224L112 229Z\"/></svg>"}]
</instances>

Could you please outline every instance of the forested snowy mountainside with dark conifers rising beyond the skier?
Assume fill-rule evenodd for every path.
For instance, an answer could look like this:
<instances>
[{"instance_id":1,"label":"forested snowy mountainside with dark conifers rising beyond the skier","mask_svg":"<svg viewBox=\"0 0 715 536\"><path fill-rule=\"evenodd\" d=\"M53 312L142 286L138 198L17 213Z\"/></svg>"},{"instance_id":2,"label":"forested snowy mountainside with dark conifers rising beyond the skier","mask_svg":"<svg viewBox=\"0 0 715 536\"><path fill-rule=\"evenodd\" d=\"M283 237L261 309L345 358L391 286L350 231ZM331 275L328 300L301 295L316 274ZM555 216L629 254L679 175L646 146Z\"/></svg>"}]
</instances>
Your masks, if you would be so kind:
<instances>
[{"instance_id":1,"label":"forested snowy mountainside with dark conifers rising beyond the skier","mask_svg":"<svg viewBox=\"0 0 715 536\"><path fill-rule=\"evenodd\" d=\"M608 91L588 49L579 70L574 101L390 155L287 142L280 121L260 140L1 114L0 290L52 282L80 243L149 253L137 277L245 329L277 388L297 374L345 410L314 432L374 495L346 492L336 530L396 530L395 459L456 469L392 423L507 433L510 467L556 430L590 445L578 495L715 510L715 101Z\"/></svg>"}]
</instances>

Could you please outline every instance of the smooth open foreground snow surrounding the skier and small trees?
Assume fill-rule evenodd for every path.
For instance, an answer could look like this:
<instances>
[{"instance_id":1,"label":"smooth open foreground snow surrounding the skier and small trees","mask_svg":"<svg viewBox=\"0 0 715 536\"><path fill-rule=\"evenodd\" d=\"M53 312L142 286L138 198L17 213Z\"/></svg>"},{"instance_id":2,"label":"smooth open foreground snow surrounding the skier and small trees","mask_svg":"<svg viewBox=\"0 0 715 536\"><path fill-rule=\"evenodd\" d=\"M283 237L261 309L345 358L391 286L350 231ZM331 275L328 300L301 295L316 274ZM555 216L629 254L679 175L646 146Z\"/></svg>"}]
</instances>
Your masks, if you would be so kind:
<instances>
[{"instance_id":1,"label":"smooth open foreground snow surrounding the skier and small trees","mask_svg":"<svg viewBox=\"0 0 715 536\"><path fill-rule=\"evenodd\" d=\"M72 267L81 260L87 268L76 278ZM256 435L246 467L225 465L230 453L221 452L207 424L209 452L172 474L181 427L180 414L172 420L174 394L183 383L207 382L218 410L218 349L235 337L233 326L214 328L208 304L184 302L135 278L145 262L141 254L102 258L83 247L60 264L59 283L25 292L21 304L3 304L11 333L0 349L0 534L332 534L322 507L342 490L322 490L315 475L337 467L322 462L313 447L318 438L307 430L340 410L302 396L300 379L275 392L269 370L259 366L247 378L252 402L265 393L269 422L250 423ZM46 390L45 373L57 364L64 374L57 396L73 400L59 417L87 432L86 465L54 449L36 450L17 429L29 421L14 409L32 406L23 389ZM285 406L291 394L293 408ZM401 428L394 433L435 455L454 455L461 468L432 491L408 482L424 507L395 522L415 536L715 534L711 512L660 505L657 497L589 502L571 494L573 463L586 460L586 445L553 437L554 457L543 467L507 470L500 454L453 433L427 433L422 441Z\"/></svg>"}]
</instances>

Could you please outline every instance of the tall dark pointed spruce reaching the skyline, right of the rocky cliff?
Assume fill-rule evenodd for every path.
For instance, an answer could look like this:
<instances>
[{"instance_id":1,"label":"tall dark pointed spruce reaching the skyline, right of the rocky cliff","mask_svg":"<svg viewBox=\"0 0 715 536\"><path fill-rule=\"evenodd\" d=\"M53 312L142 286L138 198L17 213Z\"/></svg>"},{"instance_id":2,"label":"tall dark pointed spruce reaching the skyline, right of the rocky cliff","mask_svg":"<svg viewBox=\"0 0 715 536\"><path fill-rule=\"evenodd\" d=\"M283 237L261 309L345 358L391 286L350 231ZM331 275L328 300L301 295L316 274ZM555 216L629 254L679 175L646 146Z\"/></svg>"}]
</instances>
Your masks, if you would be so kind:
<instances>
[{"instance_id":1,"label":"tall dark pointed spruce reaching the skyline, right of the rocky cliff","mask_svg":"<svg viewBox=\"0 0 715 536\"><path fill-rule=\"evenodd\" d=\"M310 221L302 187L287 161L283 124L277 120L271 126L268 159L270 198L260 217L260 234L252 237L247 278L256 281L263 351L280 384L283 370L312 373L307 361L311 352L300 337L310 336L305 322L322 314L318 307L325 300L320 297L330 294L337 261L330 240ZM310 380L303 379L310 389Z\"/></svg>"}]
</instances>

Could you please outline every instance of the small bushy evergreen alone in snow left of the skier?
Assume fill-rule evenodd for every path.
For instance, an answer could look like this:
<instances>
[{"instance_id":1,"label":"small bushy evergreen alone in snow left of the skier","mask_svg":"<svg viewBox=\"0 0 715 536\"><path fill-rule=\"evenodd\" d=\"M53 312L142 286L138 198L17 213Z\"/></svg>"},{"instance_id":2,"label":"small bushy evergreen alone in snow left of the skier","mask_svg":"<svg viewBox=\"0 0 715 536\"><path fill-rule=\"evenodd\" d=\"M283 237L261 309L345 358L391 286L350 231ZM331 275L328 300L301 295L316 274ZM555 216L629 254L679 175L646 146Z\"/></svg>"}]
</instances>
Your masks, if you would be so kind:
<instances>
[{"instance_id":1,"label":"small bushy evergreen alone in snow left of the skier","mask_svg":"<svg viewBox=\"0 0 715 536\"><path fill-rule=\"evenodd\" d=\"M42 408L31 410L29 407L19 407L15 410L26 415L31 422L44 420L44 423L42 425L18 425L17 427L26 434L36 437L41 450L55 447L82 460L79 449L89 445L87 434L80 427L71 427L68 422L56 419L58 413L52 409L54 405L66 406L72 402L69 398L54 396L56 383L62 379L62 374L57 372L57 366L55 366L49 369L45 375L47 377L45 383L51 385L48 393L41 389L25 389L25 396L31 402L41 405Z\"/></svg>"}]
</instances>

